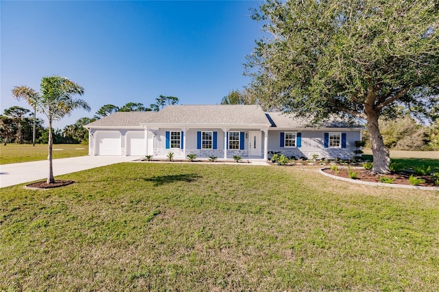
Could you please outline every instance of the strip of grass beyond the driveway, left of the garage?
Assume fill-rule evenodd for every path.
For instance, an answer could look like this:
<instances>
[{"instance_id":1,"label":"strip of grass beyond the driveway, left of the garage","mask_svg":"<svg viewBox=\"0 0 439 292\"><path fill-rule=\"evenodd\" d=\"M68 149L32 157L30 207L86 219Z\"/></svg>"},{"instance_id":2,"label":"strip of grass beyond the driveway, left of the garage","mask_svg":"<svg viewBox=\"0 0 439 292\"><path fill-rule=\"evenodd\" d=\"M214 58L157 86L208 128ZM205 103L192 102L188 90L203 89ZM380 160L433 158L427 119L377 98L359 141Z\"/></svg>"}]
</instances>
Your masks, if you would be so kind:
<instances>
[{"instance_id":1,"label":"strip of grass beyond the driveway, left of the garage","mask_svg":"<svg viewBox=\"0 0 439 292\"><path fill-rule=\"evenodd\" d=\"M0 145L0 165L9 163L46 160L48 155L47 144L8 144ZM88 145L80 144L55 144L52 152L54 159L88 154Z\"/></svg>"}]
</instances>

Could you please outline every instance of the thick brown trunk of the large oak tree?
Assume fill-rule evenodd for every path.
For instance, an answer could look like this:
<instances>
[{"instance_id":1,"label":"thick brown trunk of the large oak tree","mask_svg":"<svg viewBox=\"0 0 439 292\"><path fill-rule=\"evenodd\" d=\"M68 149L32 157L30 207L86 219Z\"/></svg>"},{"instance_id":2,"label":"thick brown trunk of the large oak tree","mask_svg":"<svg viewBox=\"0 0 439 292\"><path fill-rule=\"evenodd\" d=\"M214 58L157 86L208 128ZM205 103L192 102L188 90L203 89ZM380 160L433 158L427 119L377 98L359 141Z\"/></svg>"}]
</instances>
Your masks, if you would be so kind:
<instances>
[{"instance_id":1,"label":"thick brown trunk of the large oak tree","mask_svg":"<svg viewBox=\"0 0 439 292\"><path fill-rule=\"evenodd\" d=\"M366 106L365 109L367 121L368 121L368 132L370 139L370 148L372 148L373 155L373 169L375 173L390 173L390 152L384 146L383 136L379 132L379 112L374 110L372 106Z\"/></svg>"}]
</instances>

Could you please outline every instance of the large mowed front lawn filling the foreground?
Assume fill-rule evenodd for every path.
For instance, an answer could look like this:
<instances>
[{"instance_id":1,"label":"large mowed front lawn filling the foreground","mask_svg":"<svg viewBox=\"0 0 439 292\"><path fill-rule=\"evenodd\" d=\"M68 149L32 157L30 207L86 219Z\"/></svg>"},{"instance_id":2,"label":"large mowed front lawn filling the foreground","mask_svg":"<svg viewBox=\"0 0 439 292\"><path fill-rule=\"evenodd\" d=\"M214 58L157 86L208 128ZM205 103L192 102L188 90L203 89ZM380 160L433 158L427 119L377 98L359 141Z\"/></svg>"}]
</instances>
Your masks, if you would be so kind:
<instances>
[{"instance_id":1,"label":"large mowed front lawn filling the foreground","mask_svg":"<svg viewBox=\"0 0 439 292\"><path fill-rule=\"evenodd\" d=\"M123 163L0 192L0 290L439 291L439 192Z\"/></svg>"}]
</instances>

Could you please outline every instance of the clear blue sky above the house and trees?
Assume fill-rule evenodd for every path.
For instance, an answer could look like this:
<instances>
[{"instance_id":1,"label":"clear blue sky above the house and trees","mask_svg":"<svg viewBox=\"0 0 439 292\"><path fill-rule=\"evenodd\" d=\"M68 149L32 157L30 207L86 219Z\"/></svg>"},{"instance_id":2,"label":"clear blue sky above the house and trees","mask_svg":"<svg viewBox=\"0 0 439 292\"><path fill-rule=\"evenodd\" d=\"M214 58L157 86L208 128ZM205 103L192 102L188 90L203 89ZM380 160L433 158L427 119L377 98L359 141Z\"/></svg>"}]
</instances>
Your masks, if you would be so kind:
<instances>
[{"instance_id":1,"label":"clear blue sky above the house and trees","mask_svg":"<svg viewBox=\"0 0 439 292\"><path fill-rule=\"evenodd\" d=\"M75 110L62 128L104 104L219 104L250 82L245 56L261 38L249 8L261 1L1 1L1 104L14 86L40 90L41 77L85 88L91 112ZM38 114L42 117L42 114ZM47 123L46 123L47 125Z\"/></svg>"}]
</instances>

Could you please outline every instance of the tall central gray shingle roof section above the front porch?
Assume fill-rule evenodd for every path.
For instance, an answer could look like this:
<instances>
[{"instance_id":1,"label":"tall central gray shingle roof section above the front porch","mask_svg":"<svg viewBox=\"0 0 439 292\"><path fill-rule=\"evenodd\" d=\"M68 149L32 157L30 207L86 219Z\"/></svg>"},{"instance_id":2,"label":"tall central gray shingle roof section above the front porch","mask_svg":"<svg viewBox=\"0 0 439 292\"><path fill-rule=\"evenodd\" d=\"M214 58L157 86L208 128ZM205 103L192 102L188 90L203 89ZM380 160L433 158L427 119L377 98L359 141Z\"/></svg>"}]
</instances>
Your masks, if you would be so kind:
<instances>
[{"instance_id":1,"label":"tall central gray shingle roof section above the front porch","mask_svg":"<svg viewBox=\"0 0 439 292\"><path fill-rule=\"evenodd\" d=\"M166 106L153 120L154 124L270 125L260 106L244 105Z\"/></svg>"}]
</instances>

